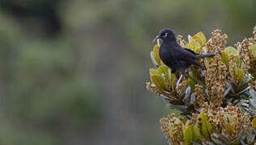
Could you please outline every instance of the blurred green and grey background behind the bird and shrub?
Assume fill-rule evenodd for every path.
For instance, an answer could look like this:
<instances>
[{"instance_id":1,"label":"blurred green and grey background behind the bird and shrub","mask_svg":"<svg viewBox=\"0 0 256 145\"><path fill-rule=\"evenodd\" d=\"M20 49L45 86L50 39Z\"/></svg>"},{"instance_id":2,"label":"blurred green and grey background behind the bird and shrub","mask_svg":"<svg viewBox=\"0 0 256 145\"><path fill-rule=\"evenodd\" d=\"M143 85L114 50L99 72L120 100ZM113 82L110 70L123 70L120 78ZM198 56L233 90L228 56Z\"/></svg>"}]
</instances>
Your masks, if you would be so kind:
<instances>
[{"instance_id":1,"label":"blurred green and grey background behind the bird and shrub","mask_svg":"<svg viewBox=\"0 0 256 145\"><path fill-rule=\"evenodd\" d=\"M0 144L167 144L151 39L252 35L255 0L1 0Z\"/></svg>"}]
</instances>

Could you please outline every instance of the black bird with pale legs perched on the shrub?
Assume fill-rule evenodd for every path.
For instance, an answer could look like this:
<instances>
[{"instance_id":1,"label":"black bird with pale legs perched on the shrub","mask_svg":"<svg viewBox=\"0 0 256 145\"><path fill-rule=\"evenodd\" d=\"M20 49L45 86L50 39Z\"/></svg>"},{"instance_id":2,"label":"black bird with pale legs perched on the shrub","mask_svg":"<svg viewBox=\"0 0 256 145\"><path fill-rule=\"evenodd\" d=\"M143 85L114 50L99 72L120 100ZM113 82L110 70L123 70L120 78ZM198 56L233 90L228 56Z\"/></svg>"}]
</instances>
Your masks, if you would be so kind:
<instances>
[{"instance_id":1,"label":"black bird with pale legs perched on the shrub","mask_svg":"<svg viewBox=\"0 0 256 145\"><path fill-rule=\"evenodd\" d=\"M185 75L186 68L189 68L192 64L202 68L198 63L200 58L215 56L215 53L200 55L189 48L182 48L180 44L177 44L175 33L168 28L162 29L159 34L156 35L156 38L153 39L153 42L155 42L156 39L163 40L159 51L161 60L172 69L172 73L178 71L181 74L181 77L177 81L176 88L180 84L181 78Z\"/></svg>"}]
</instances>

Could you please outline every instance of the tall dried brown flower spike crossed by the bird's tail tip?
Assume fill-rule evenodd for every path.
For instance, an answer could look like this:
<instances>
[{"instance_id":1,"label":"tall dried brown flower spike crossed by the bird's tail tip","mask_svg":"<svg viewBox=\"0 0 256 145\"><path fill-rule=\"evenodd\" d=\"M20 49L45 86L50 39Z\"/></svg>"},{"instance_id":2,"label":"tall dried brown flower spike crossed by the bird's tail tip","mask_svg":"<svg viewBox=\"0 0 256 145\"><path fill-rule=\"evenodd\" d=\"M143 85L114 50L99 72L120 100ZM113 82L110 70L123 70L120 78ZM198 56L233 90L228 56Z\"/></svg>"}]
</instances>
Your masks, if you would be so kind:
<instances>
[{"instance_id":1,"label":"tall dried brown flower spike crossed by the bird's tail tip","mask_svg":"<svg viewBox=\"0 0 256 145\"><path fill-rule=\"evenodd\" d=\"M215 30L212 33L211 39L207 42L208 52L224 51L227 44L228 35L220 35L220 30ZM208 59L206 84L207 94L212 106L220 106L223 100L224 89L226 86L227 68L222 62L219 54Z\"/></svg>"}]
</instances>

